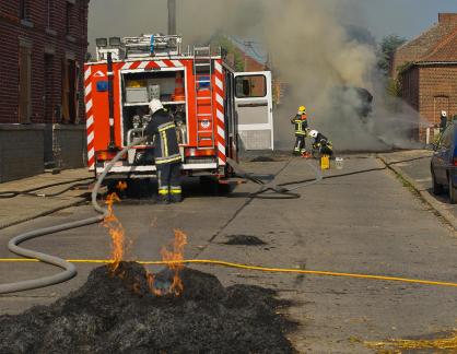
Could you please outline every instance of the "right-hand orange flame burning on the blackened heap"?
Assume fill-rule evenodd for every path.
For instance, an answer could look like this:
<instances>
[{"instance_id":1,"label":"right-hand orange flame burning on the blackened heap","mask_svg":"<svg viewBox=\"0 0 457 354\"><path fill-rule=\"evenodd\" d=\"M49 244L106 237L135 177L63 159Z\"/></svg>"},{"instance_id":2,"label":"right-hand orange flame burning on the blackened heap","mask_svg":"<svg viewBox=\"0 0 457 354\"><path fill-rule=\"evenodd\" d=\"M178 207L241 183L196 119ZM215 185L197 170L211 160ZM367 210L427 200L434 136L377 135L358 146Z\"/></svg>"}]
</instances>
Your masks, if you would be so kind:
<instances>
[{"instance_id":1,"label":"right-hand orange flame burning on the blackened heap","mask_svg":"<svg viewBox=\"0 0 457 354\"><path fill-rule=\"evenodd\" d=\"M184 247L187 245L187 236L180 229L175 229L175 239L171 245L173 249L162 248L162 260L167 262L167 268L173 272L173 281L165 288L159 288L155 284L154 274L148 274L148 283L151 292L157 296L175 295L180 296L184 292L183 281L179 276L184 269Z\"/></svg>"}]
</instances>

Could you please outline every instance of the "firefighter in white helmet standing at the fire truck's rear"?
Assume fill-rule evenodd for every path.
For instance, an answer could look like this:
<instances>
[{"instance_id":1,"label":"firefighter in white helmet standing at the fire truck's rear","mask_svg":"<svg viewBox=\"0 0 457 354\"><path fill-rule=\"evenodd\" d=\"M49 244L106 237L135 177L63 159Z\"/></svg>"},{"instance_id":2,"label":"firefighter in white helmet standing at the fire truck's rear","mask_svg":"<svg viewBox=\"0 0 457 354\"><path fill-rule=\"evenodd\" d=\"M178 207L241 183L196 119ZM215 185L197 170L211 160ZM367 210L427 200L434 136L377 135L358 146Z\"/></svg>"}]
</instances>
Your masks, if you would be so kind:
<instances>
[{"instance_id":1,"label":"firefighter in white helmet standing at the fire truck's rear","mask_svg":"<svg viewBox=\"0 0 457 354\"><path fill-rule=\"evenodd\" d=\"M176 125L161 101L152 99L151 122L144 134L154 137L154 158L157 168L159 201L176 203L183 201L181 156L176 134Z\"/></svg>"}]
</instances>

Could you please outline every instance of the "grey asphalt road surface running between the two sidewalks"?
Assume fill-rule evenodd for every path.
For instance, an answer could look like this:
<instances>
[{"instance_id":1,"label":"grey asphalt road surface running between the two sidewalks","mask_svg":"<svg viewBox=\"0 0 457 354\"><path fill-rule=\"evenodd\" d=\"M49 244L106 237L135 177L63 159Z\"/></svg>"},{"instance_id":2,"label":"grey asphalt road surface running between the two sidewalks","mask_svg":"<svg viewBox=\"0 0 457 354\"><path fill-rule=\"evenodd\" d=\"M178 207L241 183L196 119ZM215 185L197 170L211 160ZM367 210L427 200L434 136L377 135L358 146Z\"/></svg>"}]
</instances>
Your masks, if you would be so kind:
<instances>
[{"instance_id":1,"label":"grey asphalt road surface running between the two sidewalks","mask_svg":"<svg viewBox=\"0 0 457 354\"><path fill-rule=\"evenodd\" d=\"M279 181L313 177L303 160L248 163L256 173L278 173ZM285 168L284 168L285 167ZM455 231L437 219L374 156L351 156L344 170L375 169L327 179L298 190L296 200L250 200L257 186L238 187L231 196L210 197L187 184L180 205L124 201L116 208L130 239L129 259L159 258L163 245L180 228L189 237L186 258L221 259L268 267L351 272L457 282ZM0 257L20 232L78 220L90 206L4 229ZM228 236L251 235L265 246L227 246ZM109 238L93 225L27 243L30 248L63 258L106 259ZM71 282L23 294L0 296L0 314L16 314L48 304L84 283L93 266L79 264ZM457 288L358 279L295 276L199 267L226 284L274 288L292 302L284 314L300 326L290 337L302 352L371 353L363 342L430 337L452 330L457 320ZM50 274L51 267L0 263L0 283Z\"/></svg>"}]
</instances>

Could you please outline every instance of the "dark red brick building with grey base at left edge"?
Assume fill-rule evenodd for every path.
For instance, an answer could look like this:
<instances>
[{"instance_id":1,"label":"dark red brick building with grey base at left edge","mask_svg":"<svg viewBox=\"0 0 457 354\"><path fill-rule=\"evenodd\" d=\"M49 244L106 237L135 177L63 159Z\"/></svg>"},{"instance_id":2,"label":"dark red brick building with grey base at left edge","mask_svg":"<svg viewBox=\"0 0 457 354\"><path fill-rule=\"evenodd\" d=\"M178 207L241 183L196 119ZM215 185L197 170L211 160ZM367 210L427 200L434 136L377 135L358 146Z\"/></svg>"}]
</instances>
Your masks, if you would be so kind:
<instances>
[{"instance_id":1,"label":"dark red brick building with grey base at left edge","mask_svg":"<svg viewBox=\"0 0 457 354\"><path fill-rule=\"evenodd\" d=\"M0 1L0 181L84 163L89 0Z\"/></svg>"}]
</instances>

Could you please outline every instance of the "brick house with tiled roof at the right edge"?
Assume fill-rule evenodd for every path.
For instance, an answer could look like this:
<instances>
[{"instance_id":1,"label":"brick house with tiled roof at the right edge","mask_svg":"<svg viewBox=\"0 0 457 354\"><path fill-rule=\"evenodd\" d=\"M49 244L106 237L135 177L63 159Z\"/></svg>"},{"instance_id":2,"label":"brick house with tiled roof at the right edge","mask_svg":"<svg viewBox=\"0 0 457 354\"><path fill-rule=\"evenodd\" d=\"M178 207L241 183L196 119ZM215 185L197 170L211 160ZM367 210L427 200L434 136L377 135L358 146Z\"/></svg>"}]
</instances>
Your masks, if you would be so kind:
<instances>
[{"instance_id":1,"label":"brick house with tiled roof at the right edge","mask_svg":"<svg viewBox=\"0 0 457 354\"><path fill-rule=\"evenodd\" d=\"M400 81L403 99L430 127L440 123L442 110L457 115L457 14L441 13L435 26L401 46L392 76ZM419 129L420 140L424 137L425 129Z\"/></svg>"}]
</instances>

